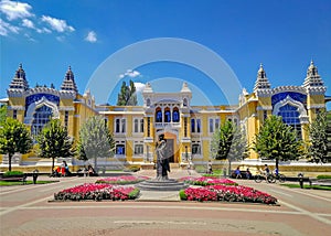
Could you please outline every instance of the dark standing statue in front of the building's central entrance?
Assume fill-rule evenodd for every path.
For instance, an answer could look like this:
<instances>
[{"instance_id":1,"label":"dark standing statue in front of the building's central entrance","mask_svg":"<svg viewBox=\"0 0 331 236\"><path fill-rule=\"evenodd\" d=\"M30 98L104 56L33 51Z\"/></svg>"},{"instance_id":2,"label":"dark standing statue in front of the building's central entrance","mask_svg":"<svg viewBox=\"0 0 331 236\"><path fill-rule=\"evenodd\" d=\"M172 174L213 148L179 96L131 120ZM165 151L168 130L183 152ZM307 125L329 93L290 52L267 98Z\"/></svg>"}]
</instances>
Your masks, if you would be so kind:
<instances>
[{"instance_id":1,"label":"dark standing statue in front of the building's central entrance","mask_svg":"<svg viewBox=\"0 0 331 236\"><path fill-rule=\"evenodd\" d=\"M168 171L170 172L168 146L164 135L159 136L157 142L157 180L168 180Z\"/></svg>"}]
</instances>

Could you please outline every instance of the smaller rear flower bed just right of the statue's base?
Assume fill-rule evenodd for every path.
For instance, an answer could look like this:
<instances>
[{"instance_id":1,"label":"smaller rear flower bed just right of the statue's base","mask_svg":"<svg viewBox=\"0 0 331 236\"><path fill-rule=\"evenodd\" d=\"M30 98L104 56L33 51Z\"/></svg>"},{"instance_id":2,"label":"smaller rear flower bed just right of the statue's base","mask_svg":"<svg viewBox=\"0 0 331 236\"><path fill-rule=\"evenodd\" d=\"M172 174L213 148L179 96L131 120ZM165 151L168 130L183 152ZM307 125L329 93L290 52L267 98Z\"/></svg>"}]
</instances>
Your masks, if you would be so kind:
<instances>
[{"instance_id":1,"label":"smaller rear flower bed just right of the statue's base","mask_svg":"<svg viewBox=\"0 0 331 236\"><path fill-rule=\"evenodd\" d=\"M180 181L183 181L191 185L238 185L236 182L228 180L228 179L218 179L212 176L201 176L201 178L193 178L193 176L185 176L181 178Z\"/></svg>"}]
</instances>

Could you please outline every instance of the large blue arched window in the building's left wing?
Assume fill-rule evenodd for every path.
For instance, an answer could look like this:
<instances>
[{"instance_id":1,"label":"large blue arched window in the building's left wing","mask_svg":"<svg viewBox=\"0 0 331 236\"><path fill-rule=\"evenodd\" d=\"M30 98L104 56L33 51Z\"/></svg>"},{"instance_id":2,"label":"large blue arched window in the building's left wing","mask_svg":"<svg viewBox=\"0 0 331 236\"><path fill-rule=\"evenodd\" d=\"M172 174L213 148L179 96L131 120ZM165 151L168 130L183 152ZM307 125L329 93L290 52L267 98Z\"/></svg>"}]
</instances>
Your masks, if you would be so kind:
<instances>
[{"instance_id":1,"label":"large blue arched window in the building's left wing","mask_svg":"<svg viewBox=\"0 0 331 236\"><path fill-rule=\"evenodd\" d=\"M51 107L42 106L35 109L31 126L32 136L38 136L41 132L43 127L51 120L52 115L53 111Z\"/></svg>"}]
</instances>

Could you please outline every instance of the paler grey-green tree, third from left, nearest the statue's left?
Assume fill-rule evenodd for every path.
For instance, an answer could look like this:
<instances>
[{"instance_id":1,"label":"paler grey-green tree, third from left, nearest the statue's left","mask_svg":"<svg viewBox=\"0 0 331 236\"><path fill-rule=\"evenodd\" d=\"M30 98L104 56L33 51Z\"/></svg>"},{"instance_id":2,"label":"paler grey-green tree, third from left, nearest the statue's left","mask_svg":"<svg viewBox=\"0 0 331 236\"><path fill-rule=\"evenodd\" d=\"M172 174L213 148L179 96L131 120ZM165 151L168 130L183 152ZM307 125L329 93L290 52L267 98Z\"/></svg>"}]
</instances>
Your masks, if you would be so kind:
<instances>
[{"instance_id":1,"label":"paler grey-green tree, third from left, nearest the statue's left","mask_svg":"<svg viewBox=\"0 0 331 236\"><path fill-rule=\"evenodd\" d=\"M97 158L114 155L115 140L105 126L102 116L90 117L79 130L77 154L81 160L94 159L97 168Z\"/></svg>"}]
</instances>

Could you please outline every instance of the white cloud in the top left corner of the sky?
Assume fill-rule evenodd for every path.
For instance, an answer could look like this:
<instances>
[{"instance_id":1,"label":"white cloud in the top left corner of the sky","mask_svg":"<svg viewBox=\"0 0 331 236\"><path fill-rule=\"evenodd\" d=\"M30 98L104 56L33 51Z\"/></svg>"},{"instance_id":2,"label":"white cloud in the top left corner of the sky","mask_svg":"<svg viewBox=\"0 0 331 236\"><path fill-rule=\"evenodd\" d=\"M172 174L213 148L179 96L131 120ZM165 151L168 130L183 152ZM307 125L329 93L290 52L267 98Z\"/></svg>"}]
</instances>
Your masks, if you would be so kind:
<instances>
[{"instance_id":1,"label":"white cloud in the top left corner of the sky","mask_svg":"<svg viewBox=\"0 0 331 236\"><path fill-rule=\"evenodd\" d=\"M9 21L22 18L30 18L32 7L24 2L2 0L0 2L0 11L6 14Z\"/></svg>"}]
</instances>

